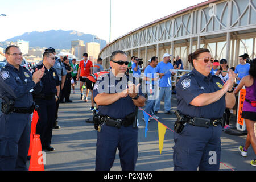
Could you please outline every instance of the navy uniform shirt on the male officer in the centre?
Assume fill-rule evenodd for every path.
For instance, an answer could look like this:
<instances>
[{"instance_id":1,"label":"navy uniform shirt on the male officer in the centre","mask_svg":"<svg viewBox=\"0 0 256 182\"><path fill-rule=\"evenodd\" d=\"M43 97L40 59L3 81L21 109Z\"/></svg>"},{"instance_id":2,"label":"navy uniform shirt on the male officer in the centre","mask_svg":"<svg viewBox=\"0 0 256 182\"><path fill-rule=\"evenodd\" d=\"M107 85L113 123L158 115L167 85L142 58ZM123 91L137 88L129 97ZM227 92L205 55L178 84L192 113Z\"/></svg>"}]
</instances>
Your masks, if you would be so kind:
<instances>
[{"instance_id":1,"label":"navy uniform shirt on the male officer in the centre","mask_svg":"<svg viewBox=\"0 0 256 182\"><path fill-rule=\"evenodd\" d=\"M93 88L94 98L99 93L119 93L122 90L128 88L128 82L131 81L133 84L138 85L137 80L134 77L128 77L123 75L123 77L115 77L112 72L104 75L96 81ZM139 86L139 95L142 95L141 86ZM113 119L125 119L125 116L131 114L135 111L135 105L133 100L128 95L125 98L120 98L114 103L106 106L98 107L98 114L109 116Z\"/></svg>"}]
</instances>

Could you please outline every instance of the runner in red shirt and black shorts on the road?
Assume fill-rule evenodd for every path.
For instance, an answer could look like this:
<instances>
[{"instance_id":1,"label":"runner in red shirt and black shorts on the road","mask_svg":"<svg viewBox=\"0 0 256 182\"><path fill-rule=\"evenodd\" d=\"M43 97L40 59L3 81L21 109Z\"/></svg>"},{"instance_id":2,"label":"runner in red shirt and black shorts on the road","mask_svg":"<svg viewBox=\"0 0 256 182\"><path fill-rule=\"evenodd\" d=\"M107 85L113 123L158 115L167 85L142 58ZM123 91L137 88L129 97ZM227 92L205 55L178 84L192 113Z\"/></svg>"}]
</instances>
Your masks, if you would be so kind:
<instances>
[{"instance_id":1,"label":"runner in red shirt and black shorts on the road","mask_svg":"<svg viewBox=\"0 0 256 182\"><path fill-rule=\"evenodd\" d=\"M80 81L80 91L81 91L81 100L84 99L84 93L82 93L83 89L82 86L86 86L86 77L88 77L90 75L90 73L92 73L92 61L88 60L88 53L84 53L84 55L82 55L82 60L79 63L79 69L77 71L77 80ZM92 93L92 90L90 90L90 92ZM84 101L88 102L87 97L89 94L89 89L86 86L86 96Z\"/></svg>"}]
</instances>

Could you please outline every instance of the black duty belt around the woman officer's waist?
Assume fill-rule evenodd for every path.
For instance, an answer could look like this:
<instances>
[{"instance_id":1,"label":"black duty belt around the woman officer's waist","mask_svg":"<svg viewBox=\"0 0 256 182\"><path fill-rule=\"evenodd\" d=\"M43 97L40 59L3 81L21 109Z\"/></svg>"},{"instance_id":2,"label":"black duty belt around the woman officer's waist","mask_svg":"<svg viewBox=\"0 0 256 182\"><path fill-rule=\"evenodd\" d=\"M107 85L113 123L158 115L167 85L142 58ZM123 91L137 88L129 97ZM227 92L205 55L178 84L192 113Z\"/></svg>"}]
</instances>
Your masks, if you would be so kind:
<instances>
[{"instance_id":1,"label":"black duty belt around the woman officer's waist","mask_svg":"<svg viewBox=\"0 0 256 182\"><path fill-rule=\"evenodd\" d=\"M206 119L206 118L188 118L187 123L193 126L209 127L209 126L218 126L222 123L222 118L217 119Z\"/></svg>"}]
</instances>

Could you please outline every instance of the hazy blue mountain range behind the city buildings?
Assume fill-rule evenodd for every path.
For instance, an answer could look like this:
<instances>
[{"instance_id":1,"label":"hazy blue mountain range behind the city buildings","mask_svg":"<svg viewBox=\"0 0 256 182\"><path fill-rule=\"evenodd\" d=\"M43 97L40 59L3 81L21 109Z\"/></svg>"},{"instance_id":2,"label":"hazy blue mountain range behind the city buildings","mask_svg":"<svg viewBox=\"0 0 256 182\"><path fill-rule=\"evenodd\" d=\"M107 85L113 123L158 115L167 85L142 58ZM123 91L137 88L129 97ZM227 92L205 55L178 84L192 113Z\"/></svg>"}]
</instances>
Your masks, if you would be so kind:
<instances>
[{"instance_id":1,"label":"hazy blue mountain range behind the city buildings","mask_svg":"<svg viewBox=\"0 0 256 182\"><path fill-rule=\"evenodd\" d=\"M53 47L55 49L71 49L72 40L84 40L84 44L87 42L97 42L101 44L101 49L106 46L106 40L98 40L94 38L97 38L97 36L92 34L84 34L75 30L49 30L43 32L26 32L23 35L15 36L14 38L7 39L6 41L29 41L30 48Z\"/></svg>"}]
</instances>

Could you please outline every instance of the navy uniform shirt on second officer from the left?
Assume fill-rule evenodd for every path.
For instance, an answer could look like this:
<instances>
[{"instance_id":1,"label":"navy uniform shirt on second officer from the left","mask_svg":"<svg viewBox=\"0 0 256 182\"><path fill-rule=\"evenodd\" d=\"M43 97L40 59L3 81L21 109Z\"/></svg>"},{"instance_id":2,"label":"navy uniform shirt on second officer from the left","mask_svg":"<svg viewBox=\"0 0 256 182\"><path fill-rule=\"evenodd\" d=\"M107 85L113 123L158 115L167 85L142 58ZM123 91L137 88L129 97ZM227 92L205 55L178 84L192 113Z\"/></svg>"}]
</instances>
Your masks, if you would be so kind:
<instances>
[{"instance_id":1,"label":"navy uniform shirt on second officer from the left","mask_svg":"<svg viewBox=\"0 0 256 182\"><path fill-rule=\"evenodd\" d=\"M31 69L31 73L33 74L36 68L41 69L43 66L43 64L37 65ZM41 81L43 83L43 88L40 93L44 93L46 95L57 93L56 86L59 86L60 82L57 71L54 68L51 67L49 71L45 68L44 76L41 78Z\"/></svg>"}]
</instances>

